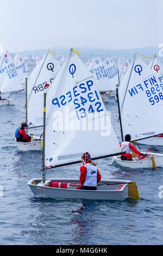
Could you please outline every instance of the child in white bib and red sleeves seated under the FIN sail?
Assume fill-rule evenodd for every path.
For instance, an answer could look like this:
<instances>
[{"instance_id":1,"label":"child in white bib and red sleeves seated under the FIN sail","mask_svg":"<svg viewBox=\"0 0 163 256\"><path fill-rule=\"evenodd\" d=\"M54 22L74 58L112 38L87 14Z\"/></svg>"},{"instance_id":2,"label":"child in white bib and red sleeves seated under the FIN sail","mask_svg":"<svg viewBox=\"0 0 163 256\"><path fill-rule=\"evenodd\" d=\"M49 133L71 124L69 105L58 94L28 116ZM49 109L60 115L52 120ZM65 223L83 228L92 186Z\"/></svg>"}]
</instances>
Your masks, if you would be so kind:
<instances>
[{"instance_id":1,"label":"child in white bib and red sleeves seated under the FIN sail","mask_svg":"<svg viewBox=\"0 0 163 256\"><path fill-rule=\"evenodd\" d=\"M142 158L145 158L144 156L146 156L147 154L141 153L135 148L133 143L130 142L131 136L129 134L127 134L124 139L125 140L120 144L120 146L122 151L126 151L126 154L121 155L121 160L133 161L131 151L139 155L140 160Z\"/></svg>"}]
</instances>

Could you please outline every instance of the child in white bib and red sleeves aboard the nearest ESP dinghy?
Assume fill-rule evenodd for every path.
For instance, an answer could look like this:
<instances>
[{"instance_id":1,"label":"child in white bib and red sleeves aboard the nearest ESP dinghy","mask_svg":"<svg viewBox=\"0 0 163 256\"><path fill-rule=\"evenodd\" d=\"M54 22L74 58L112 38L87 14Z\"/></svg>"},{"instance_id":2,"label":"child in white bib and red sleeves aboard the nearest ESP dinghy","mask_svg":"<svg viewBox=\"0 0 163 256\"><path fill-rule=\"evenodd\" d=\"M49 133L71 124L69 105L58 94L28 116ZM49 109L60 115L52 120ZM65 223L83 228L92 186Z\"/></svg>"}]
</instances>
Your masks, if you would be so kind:
<instances>
[{"instance_id":1,"label":"child in white bib and red sleeves aboard the nearest ESP dinghy","mask_svg":"<svg viewBox=\"0 0 163 256\"><path fill-rule=\"evenodd\" d=\"M82 156L83 166L80 167L80 184L78 190L97 190L97 183L101 180L101 174L97 169L97 164L91 161L89 153Z\"/></svg>"}]
</instances>

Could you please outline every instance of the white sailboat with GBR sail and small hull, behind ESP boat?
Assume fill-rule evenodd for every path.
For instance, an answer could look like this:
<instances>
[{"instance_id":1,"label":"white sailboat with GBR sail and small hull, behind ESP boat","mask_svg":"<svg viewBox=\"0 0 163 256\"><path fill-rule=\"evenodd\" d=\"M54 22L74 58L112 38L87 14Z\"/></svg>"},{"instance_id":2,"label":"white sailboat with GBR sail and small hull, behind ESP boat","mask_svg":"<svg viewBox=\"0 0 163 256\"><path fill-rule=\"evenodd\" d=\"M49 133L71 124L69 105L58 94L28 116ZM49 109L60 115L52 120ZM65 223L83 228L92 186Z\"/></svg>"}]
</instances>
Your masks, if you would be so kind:
<instances>
[{"instance_id":1,"label":"white sailboat with GBR sail and small hull, behind ESP boat","mask_svg":"<svg viewBox=\"0 0 163 256\"><path fill-rule=\"evenodd\" d=\"M60 63L51 51L36 66L26 83L26 123L29 129L43 127L43 93L51 86ZM26 80L27 81L27 80ZM17 142L19 150L41 150L42 139L34 137L32 142Z\"/></svg>"}]
</instances>

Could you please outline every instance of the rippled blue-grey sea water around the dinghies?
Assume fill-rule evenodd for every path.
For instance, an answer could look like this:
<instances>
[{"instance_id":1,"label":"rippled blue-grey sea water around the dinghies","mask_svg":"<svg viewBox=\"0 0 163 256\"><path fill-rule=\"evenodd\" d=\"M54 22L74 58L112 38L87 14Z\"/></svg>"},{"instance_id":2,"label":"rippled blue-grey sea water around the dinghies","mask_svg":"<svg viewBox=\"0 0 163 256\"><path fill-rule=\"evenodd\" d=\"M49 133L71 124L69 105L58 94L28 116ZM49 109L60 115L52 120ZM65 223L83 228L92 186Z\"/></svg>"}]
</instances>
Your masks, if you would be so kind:
<instances>
[{"instance_id":1,"label":"rippled blue-grey sea water around the dinghies","mask_svg":"<svg viewBox=\"0 0 163 256\"><path fill-rule=\"evenodd\" d=\"M141 200L124 202L56 200L34 197L28 180L41 177L41 152L20 152L15 130L25 120L25 93L13 95L16 106L0 107L0 244L1 245L161 245L163 168L129 169L112 159L98 160L102 178L136 181ZM118 139L117 102L107 103ZM141 145L147 150L146 145ZM163 147L151 149L163 153ZM78 178L81 164L48 170L49 177Z\"/></svg>"}]
</instances>

